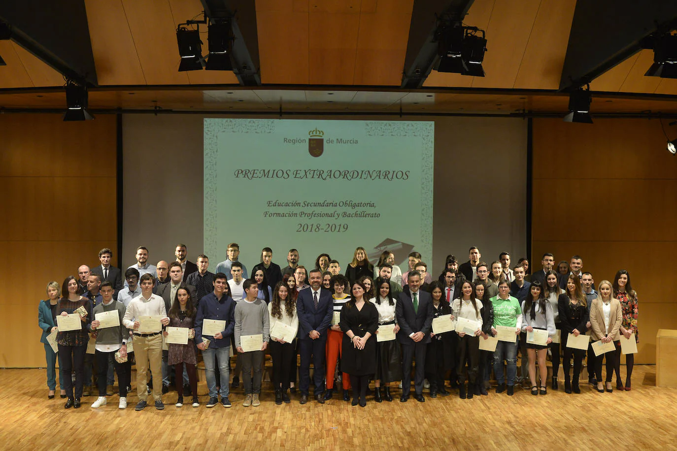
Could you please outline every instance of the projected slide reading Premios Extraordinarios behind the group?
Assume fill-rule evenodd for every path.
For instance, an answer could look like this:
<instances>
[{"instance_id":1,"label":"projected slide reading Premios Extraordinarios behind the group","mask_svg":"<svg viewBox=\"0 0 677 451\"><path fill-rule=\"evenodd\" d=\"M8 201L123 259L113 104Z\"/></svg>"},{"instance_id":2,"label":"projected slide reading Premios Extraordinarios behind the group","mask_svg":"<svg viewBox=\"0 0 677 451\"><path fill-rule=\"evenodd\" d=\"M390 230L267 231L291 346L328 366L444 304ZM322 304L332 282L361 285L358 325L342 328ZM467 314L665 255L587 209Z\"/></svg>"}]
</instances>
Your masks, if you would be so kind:
<instances>
[{"instance_id":1,"label":"projected slide reading Premios Extraordinarios behind the group","mask_svg":"<svg viewBox=\"0 0 677 451\"><path fill-rule=\"evenodd\" d=\"M263 247L282 267L291 248L307 268L326 253L345 270L357 246L372 264L384 250L397 264L413 250L430 260L434 133L434 122L205 119L207 255L236 242L248 268Z\"/></svg>"}]
</instances>

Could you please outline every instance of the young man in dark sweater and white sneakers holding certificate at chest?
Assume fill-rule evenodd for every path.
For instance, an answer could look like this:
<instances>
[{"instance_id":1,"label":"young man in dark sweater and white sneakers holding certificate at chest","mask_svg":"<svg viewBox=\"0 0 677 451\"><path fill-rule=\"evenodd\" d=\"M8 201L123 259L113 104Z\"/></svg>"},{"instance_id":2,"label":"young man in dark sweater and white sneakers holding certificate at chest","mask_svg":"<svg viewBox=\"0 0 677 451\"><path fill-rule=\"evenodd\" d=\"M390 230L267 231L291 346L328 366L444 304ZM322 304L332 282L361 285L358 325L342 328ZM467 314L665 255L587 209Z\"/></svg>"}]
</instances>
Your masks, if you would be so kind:
<instances>
[{"instance_id":1,"label":"young man in dark sweater and white sneakers holding certificate at chest","mask_svg":"<svg viewBox=\"0 0 677 451\"><path fill-rule=\"evenodd\" d=\"M113 285L110 282L101 284L100 293L102 295L102 302L94 307L91 314L93 321L90 325L92 333L96 334L96 351L95 361L97 363L97 371L99 373L99 398L95 400L91 406L98 408L106 404L106 373L108 372L108 357L120 351L122 358L127 357L127 339L129 339L129 331L123 325L123 316L125 316L125 304L113 299ZM96 315L104 312L116 312L118 317L118 325L112 327L101 327L101 321L96 319ZM113 314L114 315L114 314ZM120 389L120 403L118 408L127 407L127 385L129 385L129 374L127 373L127 365L120 363L113 359L115 371L118 373L118 388Z\"/></svg>"}]
</instances>

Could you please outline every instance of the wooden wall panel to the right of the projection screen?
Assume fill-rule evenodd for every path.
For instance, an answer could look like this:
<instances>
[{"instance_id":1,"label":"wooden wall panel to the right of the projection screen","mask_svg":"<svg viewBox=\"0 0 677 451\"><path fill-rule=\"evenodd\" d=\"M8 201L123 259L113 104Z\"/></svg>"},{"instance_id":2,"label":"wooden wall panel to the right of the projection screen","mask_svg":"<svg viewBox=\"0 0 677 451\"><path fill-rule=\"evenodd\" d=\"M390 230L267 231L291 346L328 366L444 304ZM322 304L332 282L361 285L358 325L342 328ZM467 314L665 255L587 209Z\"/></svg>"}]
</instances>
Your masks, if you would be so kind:
<instances>
[{"instance_id":1,"label":"wooden wall panel to the right of the projection screen","mask_svg":"<svg viewBox=\"0 0 677 451\"><path fill-rule=\"evenodd\" d=\"M674 329L665 262L677 254L677 159L657 121L533 120L533 270L573 254L596 282L630 272L639 296L637 363L655 363L658 329ZM668 285L666 285L668 284Z\"/></svg>"}]
</instances>

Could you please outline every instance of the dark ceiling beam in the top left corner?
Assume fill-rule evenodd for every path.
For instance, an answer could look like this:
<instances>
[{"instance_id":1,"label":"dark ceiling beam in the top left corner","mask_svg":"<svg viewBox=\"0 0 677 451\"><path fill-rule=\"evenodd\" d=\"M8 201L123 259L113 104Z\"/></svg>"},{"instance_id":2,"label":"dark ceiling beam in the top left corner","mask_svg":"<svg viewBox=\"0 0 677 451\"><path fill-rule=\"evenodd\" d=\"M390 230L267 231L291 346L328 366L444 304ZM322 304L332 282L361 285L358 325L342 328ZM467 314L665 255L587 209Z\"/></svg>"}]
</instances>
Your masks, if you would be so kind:
<instances>
[{"instance_id":1,"label":"dark ceiling beam in the top left corner","mask_svg":"<svg viewBox=\"0 0 677 451\"><path fill-rule=\"evenodd\" d=\"M0 20L9 24L12 41L48 66L97 86L84 0L0 1Z\"/></svg>"}]
</instances>

